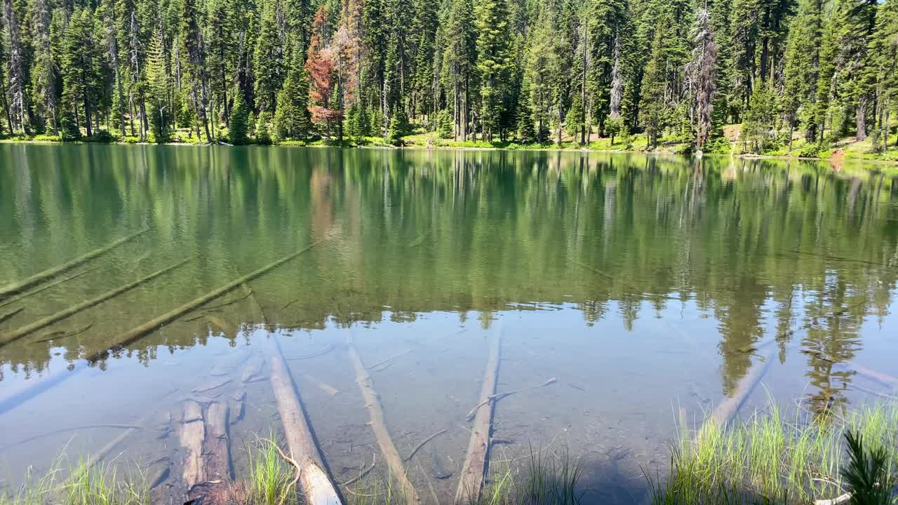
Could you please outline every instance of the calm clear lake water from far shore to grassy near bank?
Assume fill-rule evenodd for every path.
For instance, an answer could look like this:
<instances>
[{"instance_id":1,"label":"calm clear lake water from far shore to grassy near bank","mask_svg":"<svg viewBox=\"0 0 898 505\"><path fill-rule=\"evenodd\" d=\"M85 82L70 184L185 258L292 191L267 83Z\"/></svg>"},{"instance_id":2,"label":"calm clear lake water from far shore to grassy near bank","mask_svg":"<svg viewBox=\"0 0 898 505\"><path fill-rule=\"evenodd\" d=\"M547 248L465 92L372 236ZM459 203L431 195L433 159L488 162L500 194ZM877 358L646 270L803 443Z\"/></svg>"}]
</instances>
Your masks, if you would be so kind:
<instances>
[{"instance_id":1,"label":"calm clear lake water from far shore to grassy near bank","mask_svg":"<svg viewBox=\"0 0 898 505\"><path fill-rule=\"evenodd\" d=\"M446 430L408 464L427 502L453 496L491 333L497 391L526 388L496 403L494 468L525 465L531 447L568 450L594 503L639 501L643 470L668 461L677 412L699 424L765 356L763 387L741 412L771 399L850 408L883 390L853 370L898 376L898 181L861 166L0 145L0 286L140 230L24 295L83 275L0 300L0 316L24 307L0 323L2 339L189 259L0 347L0 486L123 430L98 425L139 425L107 461L169 467L154 496L180 502L188 400L230 404L234 472L245 474L253 434L280 430L268 368L246 372L267 362L270 338L336 481L378 453L348 342L401 455ZM253 297L236 288L115 347L310 244L252 279Z\"/></svg>"}]
</instances>

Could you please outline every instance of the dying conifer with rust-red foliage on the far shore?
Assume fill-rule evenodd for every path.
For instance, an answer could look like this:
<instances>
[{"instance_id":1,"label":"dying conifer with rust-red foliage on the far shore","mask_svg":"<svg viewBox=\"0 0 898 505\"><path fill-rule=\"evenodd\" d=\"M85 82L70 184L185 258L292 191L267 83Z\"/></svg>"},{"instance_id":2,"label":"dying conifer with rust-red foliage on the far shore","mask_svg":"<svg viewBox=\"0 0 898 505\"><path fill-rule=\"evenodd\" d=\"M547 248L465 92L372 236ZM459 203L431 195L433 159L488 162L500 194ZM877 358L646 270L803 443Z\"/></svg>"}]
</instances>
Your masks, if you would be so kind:
<instances>
[{"instance_id":1,"label":"dying conifer with rust-red foliage on the far shore","mask_svg":"<svg viewBox=\"0 0 898 505\"><path fill-rule=\"evenodd\" d=\"M312 113L312 122L316 125L323 124L327 137L330 138L330 125L334 121L342 119L339 109L330 108L330 96L334 91L334 58L327 45L327 22L325 21L324 5L315 12L313 22L312 41L309 44L308 56L305 58L305 70L312 78L312 86L309 89L309 97L313 105L309 106Z\"/></svg>"}]
</instances>

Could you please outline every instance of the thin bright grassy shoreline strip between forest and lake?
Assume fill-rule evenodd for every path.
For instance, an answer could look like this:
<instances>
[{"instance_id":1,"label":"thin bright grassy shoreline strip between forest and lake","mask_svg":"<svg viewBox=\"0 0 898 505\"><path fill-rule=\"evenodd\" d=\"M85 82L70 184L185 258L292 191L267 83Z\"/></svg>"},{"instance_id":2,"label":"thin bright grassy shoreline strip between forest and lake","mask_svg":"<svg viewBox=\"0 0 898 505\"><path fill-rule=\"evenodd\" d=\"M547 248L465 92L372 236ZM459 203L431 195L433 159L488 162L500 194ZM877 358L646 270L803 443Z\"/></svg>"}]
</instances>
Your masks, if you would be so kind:
<instances>
[{"instance_id":1,"label":"thin bright grassy shoreline strip between forest and lake","mask_svg":"<svg viewBox=\"0 0 898 505\"><path fill-rule=\"evenodd\" d=\"M292 141L288 140L285 143L281 144L246 144L242 146L233 146L232 144L227 144L224 142L217 142L215 144L207 144L207 143L199 143L199 142L166 142L164 144L156 144L154 142L123 142L123 141L113 141L113 142L90 142L84 140L74 140L74 141L61 141L61 140L23 140L19 138L3 138L0 139L0 144L32 144L39 146L54 146L54 145L66 145L66 144L75 144L75 145L85 145L85 144L97 144L97 145L106 145L106 146L196 146L196 147L209 147L209 146L222 146L222 147L339 147L339 148L363 148L363 149L393 149L393 150L419 150L419 151L433 151L433 150L463 150L463 151L508 151L508 152L524 152L524 151L535 151L535 152L568 152L568 153L603 153L603 154L618 154L618 155L675 155L682 156L684 158L695 158L695 155L684 155L682 153L677 153L671 150L659 149L655 151L643 151L638 149L595 149L590 147L570 147L570 146L519 146L519 147L507 147L507 146L420 146L418 144L406 144L403 146L391 146L386 144L326 144L320 143L321 141L315 141L313 143L306 144L302 141ZM828 162L833 166L841 165L844 162L850 163L869 163L869 164L885 164L891 167L898 167L898 159L877 159L877 158L864 158L857 156L831 156L831 157L809 157L809 156L790 156L790 155L756 155L752 153L705 153L704 155L709 156L728 156L735 157L740 159L750 159L750 160L781 160L781 161L813 161L813 162Z\"/></svg>"}]
</instances>

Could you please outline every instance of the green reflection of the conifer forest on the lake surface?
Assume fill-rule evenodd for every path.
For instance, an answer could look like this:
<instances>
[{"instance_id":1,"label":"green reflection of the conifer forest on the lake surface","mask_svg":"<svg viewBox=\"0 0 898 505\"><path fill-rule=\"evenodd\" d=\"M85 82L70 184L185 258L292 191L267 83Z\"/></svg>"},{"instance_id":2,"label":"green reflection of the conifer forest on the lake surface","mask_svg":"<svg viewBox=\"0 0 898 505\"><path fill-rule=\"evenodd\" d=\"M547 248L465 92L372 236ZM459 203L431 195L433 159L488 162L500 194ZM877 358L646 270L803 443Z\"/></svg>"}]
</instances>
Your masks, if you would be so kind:
<instances>
[{"instance_id":1,"label":"green reflection of the conifer forest on the lake surface","mask_svg":"<svg viewBox=\"0 0 898 505\"><path fill-rule=\"evenodd\" d=\"M832 361L853 356L863 316L887 314L895 286L895 270L876 265L898 261L898 209L889 204L896 185L867 174L851 182L814 164L94 146L0 146L0 157L34 168L0 171L0 215L14 217L0 227L0 244L22 251L0 255L0 283L83 252L91 245L84 237L108 243L141 226L155 235L138 253L140 268L202 254L198 268L98 307L92 317L128 316L73 337L71 360L235 270L332 233L336 240L256 283L271 320L306 329L379 321L389 305L402 321L474 311L489 324L507 302L551 301L574 304L587 323L613 317L632 328L648 307L663 313L690 300L718 318L725 391L753 364L753 346L774 336L763 331L772 319L781 350L794 334L808 351L822 408L839 404L848 381ZM68 299L132 279L138 254L110 258L98 282L67 286ZM868 306L835 315L865 299ZM66 299L34 304L49 313ZM206 338L198 323L175 323L134 350L149 361L154 343L174 349ZM47 360L43 344L0 350L13 368Z\"/></svg>"}]
</instances>

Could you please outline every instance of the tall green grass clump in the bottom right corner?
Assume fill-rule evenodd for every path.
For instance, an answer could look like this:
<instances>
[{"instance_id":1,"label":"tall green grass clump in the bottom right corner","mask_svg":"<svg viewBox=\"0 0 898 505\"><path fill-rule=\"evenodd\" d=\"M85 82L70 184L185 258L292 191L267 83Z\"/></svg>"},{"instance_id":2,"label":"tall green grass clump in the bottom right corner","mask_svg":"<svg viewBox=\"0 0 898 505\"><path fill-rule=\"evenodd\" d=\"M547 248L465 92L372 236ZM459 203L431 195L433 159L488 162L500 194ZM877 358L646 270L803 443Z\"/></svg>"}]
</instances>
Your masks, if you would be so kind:
<instances>
[{"instance_id":1,"label":"tall green grass clump in the bottom right corner","mask_svg":"<svg viewBox=\"0 0 898 505\"><path fill-rule=\"evenodd\" d=\"M849 434L863 439L869 452L858 456ZM877 403L842 418L830 414L809 420L785 420L771 405L768 412L727 430L714 425L698 433L684 430L672 451L667 481L651 482L652 503L791 505L833 499L855 487L856 480L845 470L856 459L877 462L877 475L894 475L898 403ZM892 487L885 491L887 496ZM868 502L855 505L861 503Z\"/></svg>"}]
</instances>

